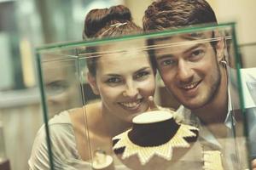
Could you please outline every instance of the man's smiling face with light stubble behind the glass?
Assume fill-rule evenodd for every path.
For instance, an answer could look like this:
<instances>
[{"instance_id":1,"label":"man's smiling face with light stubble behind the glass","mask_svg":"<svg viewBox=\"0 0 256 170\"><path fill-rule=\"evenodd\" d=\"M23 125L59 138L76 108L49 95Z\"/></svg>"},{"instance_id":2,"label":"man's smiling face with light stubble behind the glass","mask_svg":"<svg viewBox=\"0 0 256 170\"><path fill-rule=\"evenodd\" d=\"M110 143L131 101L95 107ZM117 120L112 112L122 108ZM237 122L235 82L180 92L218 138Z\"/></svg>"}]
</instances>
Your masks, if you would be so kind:
<instances>
[{"instance_id":1,"label":"man's smiling face with light stubble behind the glass","mask_svg":"<svg viewBox=\"0 0 256 170\"><path fill-rule=\"evenodd\" d=\"M172 91L180 103L190 109L197 109L212 102L215 94L218 94L220 83L225 83L224 80L221 81L221 71L218 67L222 57L212 57L216 53L215 50L221 50L219 45L214 50L210 42L197 41L212 35L209 32L205 34L198 37L181 35L155 41L157 44L180 42L179 45L155 49L154 52L166 88Z\"/></svg>"}]
</instances>

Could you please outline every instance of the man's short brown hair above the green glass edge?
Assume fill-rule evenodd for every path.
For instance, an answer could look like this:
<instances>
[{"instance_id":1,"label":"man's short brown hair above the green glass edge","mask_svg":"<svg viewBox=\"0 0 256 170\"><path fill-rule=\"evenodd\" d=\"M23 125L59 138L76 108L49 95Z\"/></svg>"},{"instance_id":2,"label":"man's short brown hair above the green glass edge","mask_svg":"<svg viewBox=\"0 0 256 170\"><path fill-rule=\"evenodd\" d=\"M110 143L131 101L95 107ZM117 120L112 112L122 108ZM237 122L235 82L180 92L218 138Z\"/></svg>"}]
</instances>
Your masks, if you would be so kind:
<instances>
[{"instance_id":1,"label":"man's short brown hair above the green glass edge","mask_svg":"<svg viewBox=\"0 0 256 170\"><path fill-rule=\"evenodd\" d=\"M144 31L210 23L218 21L205 0L159 0L148 6L143 17Z\"/></svg>"}]
</instances>

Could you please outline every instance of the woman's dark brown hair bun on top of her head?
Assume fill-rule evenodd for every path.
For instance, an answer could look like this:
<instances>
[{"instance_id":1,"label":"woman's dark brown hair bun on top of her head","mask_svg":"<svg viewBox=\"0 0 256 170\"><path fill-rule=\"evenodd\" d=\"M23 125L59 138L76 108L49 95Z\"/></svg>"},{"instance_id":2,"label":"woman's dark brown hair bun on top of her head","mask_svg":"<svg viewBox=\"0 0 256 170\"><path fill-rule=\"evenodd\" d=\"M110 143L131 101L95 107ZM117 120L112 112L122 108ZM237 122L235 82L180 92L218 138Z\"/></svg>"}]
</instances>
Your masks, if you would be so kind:
<instances>
[{"instance_id":1,"label":"woman's dark brown hair bun on top of her head","mask_svg":"<svg viewBox=\"0 0 256 170\"><path fill-rule=\"evenodd\" d=\"M96 33L105 26L111 25L114 20L119 22L131 21L131 11L124 5L111 8L92 9L84 20L83 37L95 37Z\"/></svg>"}]
</instances>

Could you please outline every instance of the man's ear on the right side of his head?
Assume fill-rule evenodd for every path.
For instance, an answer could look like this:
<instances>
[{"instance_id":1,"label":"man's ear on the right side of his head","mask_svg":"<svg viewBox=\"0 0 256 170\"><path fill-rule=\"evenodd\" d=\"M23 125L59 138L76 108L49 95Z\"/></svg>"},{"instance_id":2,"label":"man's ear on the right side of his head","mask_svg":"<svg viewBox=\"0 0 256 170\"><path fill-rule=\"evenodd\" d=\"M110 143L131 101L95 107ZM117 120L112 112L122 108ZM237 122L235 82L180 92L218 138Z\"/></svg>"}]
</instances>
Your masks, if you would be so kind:
<instances>
[{"instance_id":1,"label":"man's ear on the right side of his head","mask_svg":"<svg viewBox=\"0 0 256 170\"><path fill-rule=\"evenodd\" d=\"M224 60L224 48L225 48L225 43L224 43L224 37L219 33L219 31L214 31L215 38L217 38L217 42L215 45L216 49L216 56L218 59L218 62L221 60Z\"/></svg>"}]
</instances>

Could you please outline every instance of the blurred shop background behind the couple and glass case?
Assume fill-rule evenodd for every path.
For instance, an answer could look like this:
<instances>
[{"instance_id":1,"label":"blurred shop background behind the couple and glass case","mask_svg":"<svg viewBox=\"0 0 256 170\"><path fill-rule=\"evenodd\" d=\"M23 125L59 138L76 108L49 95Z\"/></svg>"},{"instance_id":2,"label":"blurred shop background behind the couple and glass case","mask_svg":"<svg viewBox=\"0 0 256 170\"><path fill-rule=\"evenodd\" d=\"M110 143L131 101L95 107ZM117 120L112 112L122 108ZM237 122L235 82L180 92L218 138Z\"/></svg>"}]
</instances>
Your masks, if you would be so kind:
<instances>
[{"instance_id":1,"label":"blurred shop background behind the couple and glass case","mask_svg":"<svg viewBox=\"0 0 256 170\"><path fill-rule=\"evenodd\" d=\"M82 39L84 16L92 8L124 4L142 26L153 0L0 0L0 162L14 170L27 160L38 128L44 123L38 89L35 48ZM208 0L218 22L235 21L244 63L255 63L256 1ZM1 168L0 168L1 169Z\"/></svg>"}]
</instances>

